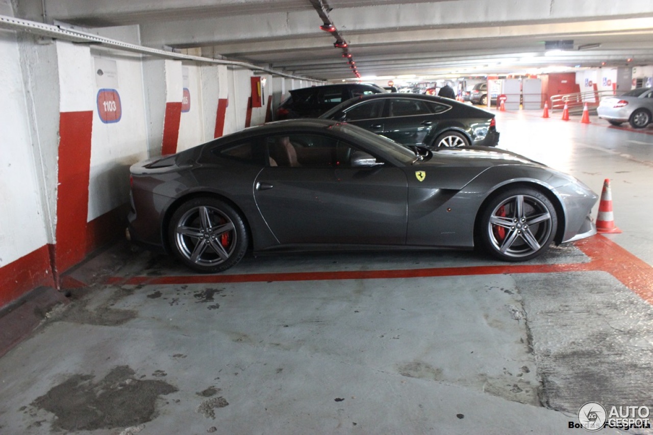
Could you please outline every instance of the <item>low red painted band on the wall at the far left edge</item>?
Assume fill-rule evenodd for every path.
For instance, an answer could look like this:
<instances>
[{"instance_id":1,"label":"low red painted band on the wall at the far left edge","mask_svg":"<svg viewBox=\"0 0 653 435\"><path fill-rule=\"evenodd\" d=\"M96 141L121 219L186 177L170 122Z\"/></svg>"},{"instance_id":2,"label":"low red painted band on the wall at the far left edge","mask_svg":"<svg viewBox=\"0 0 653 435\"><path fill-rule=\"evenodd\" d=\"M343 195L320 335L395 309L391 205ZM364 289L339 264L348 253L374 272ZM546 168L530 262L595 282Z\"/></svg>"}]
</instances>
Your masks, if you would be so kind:
<instances>
[{"instance_id":1,"label":"low red painted band on the wall at the far left edge","mask_svg":"<svg viewBox=\"0 0 653 435\"><path fill-rule=\"evenodd\" d=\"M0 307L41 285L54 286L48 245L0 268Z\"/></svg>"}]
</instances>

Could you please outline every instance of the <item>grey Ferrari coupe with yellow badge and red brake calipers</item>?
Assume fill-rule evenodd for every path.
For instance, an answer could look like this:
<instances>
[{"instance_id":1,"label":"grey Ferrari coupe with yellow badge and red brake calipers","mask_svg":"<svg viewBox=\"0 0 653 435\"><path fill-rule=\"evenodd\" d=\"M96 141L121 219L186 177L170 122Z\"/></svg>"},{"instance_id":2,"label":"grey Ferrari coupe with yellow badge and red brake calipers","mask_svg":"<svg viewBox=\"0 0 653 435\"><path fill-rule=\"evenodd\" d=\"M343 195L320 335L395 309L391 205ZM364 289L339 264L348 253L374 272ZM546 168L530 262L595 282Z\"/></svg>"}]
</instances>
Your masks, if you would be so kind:
<instances>
[{"instance_id":1,"label":"grey Ferrari coupe with yellow badge and red brake calipers","mask_svg":"<svg viewBox=\"0 0 653 435\"><path fill-rule=\"evenodd\" d=\"M277 121L131 167L128 233L199 272L249 247L484 246L505 261L596 233L596 193L493 148L430 152L355 125Z\"/></svg>"}]
</instances>

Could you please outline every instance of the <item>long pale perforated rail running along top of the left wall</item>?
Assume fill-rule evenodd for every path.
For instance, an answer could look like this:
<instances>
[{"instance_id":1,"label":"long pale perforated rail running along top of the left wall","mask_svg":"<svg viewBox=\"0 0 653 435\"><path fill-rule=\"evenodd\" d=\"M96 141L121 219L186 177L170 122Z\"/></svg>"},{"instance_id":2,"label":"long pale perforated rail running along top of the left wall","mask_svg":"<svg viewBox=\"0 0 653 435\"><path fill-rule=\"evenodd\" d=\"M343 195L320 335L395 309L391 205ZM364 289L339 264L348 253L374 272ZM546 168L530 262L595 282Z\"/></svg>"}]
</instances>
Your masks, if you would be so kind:
<instances>
[{"instance_id":1,"label":"long pale perforated rail running along top of the left wall","mask_svg":"<svg viewBox=\"0 0 653 435\"><path fill-rule=\"evenodd\" d=\"M0 29L22 31L25 33L31 33L33 35L39 35L41 37L68 40L74 44L93 44L95 46L101 46L104 48L112 48L114 50L122 50L132 53L144 54L147 56L163 57L165 59L189 60L195 62L210 63L212 65L228 65L232 67L249 69L251 71L268 72L270 74L281 77L296 78L298 80L310 80L311 82L324 81L317 78L287 74L285 72L254 65L253 63L229 61L225 59L210 59L209 57L190 56L187 54L157 50L156 48L129 44L120 40L109 39L72 28L63 28L59 25L42 24L29 20L21 20L20 18L14 18L6 15L0 15Z\"/></svg>"}]
</instances>

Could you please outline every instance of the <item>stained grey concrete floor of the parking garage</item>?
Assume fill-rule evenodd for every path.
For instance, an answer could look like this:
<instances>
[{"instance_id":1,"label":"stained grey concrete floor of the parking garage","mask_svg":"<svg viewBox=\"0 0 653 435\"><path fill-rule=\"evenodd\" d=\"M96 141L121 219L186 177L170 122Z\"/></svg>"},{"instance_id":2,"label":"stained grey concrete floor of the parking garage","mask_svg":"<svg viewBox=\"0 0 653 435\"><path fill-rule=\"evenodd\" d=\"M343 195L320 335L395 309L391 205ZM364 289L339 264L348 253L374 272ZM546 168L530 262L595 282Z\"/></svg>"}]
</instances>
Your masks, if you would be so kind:
<instances>
[{"instance_id":1,"label":"stained grey concrete floor of the parking garage","mask_svg":"<svg viewBox=\"0 0 653 435\"><path fill-rule=\"evenodd\" d=\"M518 265L283 254L213 276L121 242L0 358L0 433L560 434L586 402L653 408L653 127L540 116L498 112L501 148L610 178L622 234Z\"/></svg>"}]
</instances>

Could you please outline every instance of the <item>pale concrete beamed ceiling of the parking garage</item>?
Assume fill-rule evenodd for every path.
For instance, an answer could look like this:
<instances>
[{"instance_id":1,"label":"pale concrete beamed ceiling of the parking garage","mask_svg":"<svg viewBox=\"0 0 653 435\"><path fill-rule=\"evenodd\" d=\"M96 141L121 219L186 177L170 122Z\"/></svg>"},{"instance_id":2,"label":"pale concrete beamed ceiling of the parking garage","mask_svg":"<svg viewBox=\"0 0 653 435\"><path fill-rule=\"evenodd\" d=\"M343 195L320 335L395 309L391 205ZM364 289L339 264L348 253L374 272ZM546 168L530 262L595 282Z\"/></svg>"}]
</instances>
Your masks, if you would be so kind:
<instances>
[{"instance_id":1,"label":"pale concrete beamed ceiling of the parking garage","mask_svg":"<svg viewBox=\"0 0 653 435\"><path fill-rule=\"evenodd\" d=\"M18 0L18 18L139 25L142 44L321 80L653 65L653 1ZM45 10L43 11L43 6ZM545 41L573 40L551 53ZM631 59L628 61L628 59Z\"/></svg>"}]
</instances>

